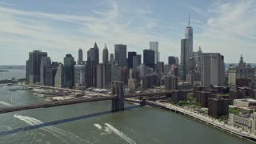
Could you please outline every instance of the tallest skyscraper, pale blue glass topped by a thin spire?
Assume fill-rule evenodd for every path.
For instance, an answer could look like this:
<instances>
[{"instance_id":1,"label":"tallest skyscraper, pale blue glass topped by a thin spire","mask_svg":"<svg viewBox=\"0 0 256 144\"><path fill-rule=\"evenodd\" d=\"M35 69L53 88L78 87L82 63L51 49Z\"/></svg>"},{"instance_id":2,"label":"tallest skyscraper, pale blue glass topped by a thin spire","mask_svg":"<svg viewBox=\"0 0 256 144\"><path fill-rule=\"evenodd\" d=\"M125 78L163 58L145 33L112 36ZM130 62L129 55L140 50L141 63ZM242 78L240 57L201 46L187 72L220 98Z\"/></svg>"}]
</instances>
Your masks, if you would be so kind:
<instances>
[{"instance_id":1,"label":"tallest skyscraper, pale blue glass topped by a thin spire","mask_svg":"<svg viewBox=\"0 0 256 144\"><path fill-rule=\"evenodd\" d=\"M188 39L189 41L189 57L192 57L193 54L193 29L190 27L190 14L189 14L189 23L188 26L186 26L185 29L185 39Z\"/></svg>"}]
</instances>

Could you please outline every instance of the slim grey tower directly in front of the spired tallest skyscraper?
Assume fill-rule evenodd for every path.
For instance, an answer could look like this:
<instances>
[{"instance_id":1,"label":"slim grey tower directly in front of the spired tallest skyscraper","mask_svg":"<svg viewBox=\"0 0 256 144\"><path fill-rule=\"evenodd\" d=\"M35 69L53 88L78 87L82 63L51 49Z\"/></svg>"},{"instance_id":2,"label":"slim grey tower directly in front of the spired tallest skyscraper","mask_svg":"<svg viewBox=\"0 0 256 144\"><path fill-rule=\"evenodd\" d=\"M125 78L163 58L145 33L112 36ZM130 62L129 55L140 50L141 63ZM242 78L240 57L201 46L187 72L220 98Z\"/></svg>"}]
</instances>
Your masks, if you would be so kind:
<instances>
[{"instance_id":1,"label":"slim grey tower directly in front of the spired tallest skyscraper","mask_svg":"<svg viewBox=\"0 0 256 144\"><path fill-rule=\"evenodd\" d=\"M180 64L180 80L186 81L186 74L189 74L189 40L182 39L181 40L181 64Z\"/></svg>"}]
</instances>

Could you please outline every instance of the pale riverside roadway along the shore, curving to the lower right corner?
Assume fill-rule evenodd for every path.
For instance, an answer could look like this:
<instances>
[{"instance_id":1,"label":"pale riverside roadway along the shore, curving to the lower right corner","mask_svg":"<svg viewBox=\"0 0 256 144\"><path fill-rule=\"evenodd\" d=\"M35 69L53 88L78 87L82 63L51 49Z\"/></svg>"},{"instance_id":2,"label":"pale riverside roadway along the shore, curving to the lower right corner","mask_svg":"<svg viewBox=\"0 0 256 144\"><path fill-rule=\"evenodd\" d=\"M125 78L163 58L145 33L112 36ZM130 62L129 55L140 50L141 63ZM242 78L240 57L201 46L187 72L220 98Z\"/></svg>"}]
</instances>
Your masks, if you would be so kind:
<instances>
[{"instance_id":1,"label":"pale riverside roadway along the shore, curving to the lower right corner","mask_svg":"<svg viewBox=\"0 0 256 144\"><path fill-rule=\"evenodd\" d=\"M215 128L218 128L222 131L226 131L230 134L236 135L239 138L244 138L246 140L249 140L250 142L256 143L256 135L254 133L250 133L248 131L238 129L237 127L230 126L224 122L219 122L218 119L216 118L211 118L202 114L198 114L197 112L194 112L192 110L186 110L179 106L174 106L173 104L170 104L170 103L146 101L146 105L156 106L162 109L171 110L176 113L186 115L200 122L204 122L207 125L214 126Z\"/></svg>"}]
</instances>

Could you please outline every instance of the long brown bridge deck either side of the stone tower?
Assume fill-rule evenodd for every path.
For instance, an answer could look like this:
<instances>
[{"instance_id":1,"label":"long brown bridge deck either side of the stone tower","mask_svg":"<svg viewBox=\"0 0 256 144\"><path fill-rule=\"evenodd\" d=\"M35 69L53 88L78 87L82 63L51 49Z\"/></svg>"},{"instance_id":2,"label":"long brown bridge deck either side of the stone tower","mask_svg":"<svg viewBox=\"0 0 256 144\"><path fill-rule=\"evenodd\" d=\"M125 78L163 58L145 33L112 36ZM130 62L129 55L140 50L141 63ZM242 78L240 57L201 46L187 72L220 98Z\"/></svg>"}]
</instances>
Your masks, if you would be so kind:
<instances>
[{"instance_id":1,"label":"long brown bridge deck either side of the stone tower","mask_svg":"<svg viewBox=\"0 0 256 144\"><path fill-rule=\"evenodd\" d=\"M166 92L126 94L126 95L124 95L124 98L152 97L152 96L163 95L163 94L166 94ZM117 99L117 98L118 98L118 96L104 96L104 97L97 97L97 98L74 98L74 99L70 99L70 100L42 102L42 103L23 105L23 106L9 106L9 107L0 108L0 114L19 111L19 110L30 110L30 109L37 109L37 108L64 106L64 105L83 103L83 102L106 101L106 100L113 100L113 99Z\"/></svg>"}]
</instances>

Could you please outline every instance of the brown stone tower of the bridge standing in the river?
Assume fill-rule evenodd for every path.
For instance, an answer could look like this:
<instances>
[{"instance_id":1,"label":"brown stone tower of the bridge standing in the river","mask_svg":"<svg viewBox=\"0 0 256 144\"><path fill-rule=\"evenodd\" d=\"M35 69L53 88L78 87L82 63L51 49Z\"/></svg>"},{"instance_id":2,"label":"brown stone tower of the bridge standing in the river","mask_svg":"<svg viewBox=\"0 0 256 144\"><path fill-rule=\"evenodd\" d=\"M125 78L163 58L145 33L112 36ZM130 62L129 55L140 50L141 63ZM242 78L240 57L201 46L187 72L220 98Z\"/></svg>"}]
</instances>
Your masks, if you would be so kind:
<instances>
[{"instance_id":1,"label":"brown stone tower of the bridge standing in the river","mask_svg":"<svg viewBox=\"0 0 256 144\"><path fill-rule=\"evenodd\" d=\"M124 110L123 82L112 82L112 94L118 98L112 100L112 110Z\"/></svg>"}]
</instances>

